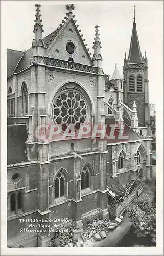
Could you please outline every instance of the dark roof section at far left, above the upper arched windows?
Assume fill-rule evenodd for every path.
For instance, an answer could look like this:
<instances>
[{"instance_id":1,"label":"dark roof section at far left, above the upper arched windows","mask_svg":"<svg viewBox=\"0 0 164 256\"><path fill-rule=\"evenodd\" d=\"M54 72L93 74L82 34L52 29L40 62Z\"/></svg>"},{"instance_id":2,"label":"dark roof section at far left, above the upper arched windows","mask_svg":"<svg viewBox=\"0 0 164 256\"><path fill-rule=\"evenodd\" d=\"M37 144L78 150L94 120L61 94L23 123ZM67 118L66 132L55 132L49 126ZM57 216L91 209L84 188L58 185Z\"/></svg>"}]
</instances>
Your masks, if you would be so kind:
<instances>
[{"instance_id":1,"label":"dark roof section at far left, above the upper arched windows","mask_svg":"<svg viewBox=\"0 0 164 256\"><path fill-rule=\"evenodd\" d=\"M7 49L7 77L12 75L17 63L21 59L24 52Z\"/></svg>"}]
</instances>

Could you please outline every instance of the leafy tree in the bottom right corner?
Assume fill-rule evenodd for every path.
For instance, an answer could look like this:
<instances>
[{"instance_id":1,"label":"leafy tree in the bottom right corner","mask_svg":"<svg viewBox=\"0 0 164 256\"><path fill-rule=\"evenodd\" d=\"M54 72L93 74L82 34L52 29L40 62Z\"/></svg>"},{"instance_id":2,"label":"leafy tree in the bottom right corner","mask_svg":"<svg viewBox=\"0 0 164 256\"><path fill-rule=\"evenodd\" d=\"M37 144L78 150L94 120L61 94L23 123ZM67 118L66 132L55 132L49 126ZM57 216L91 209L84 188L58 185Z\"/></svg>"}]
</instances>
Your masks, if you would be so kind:
<instances>
[{"instance_id":1,"label":"leafy tree in the bottom right corner","mask_svg":"<svg viewBox=\"0 0 164 256\"><path fill-rule=\"evenodd\" d=\"M128 217L137 237L147 237L156 243L156 206L148 196L137 198L130 205Z\"/></svg>"}]
</instances>

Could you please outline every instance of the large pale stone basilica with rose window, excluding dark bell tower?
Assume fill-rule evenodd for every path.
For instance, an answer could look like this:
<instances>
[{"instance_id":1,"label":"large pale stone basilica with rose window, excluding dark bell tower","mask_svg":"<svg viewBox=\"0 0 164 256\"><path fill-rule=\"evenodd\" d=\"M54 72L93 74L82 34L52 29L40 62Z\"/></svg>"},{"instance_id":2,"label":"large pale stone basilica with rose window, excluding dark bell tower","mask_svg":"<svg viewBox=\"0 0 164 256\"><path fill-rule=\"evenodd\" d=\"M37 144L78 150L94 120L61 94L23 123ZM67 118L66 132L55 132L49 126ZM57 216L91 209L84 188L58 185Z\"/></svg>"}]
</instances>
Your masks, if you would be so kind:
<instances>
[{"instance_id":1,"label":"large pale stone basilica with rose window, excluding dark bell tower","mask_svg":"<svg viewBox=\"0 0 164 256\"><path fill-rule=\"evenodd\" d=\"M130 108L123 102L123 79L117 67L111 80L101 68L99 26L95 26L91 58L73 19L74 5L66 6L62 23L43 39L39 8L36 5L32 47L25 52L7 49L7 243L11 247L48 245L54 222L46 233L24 232L29 219L67 218L62 225L74 223L80 228L85 218L108 218L108 194L114 193L114 184L128 187L138 176L142 181L152 178L151 138L145 127L138 127L132 98ZM124 67L124 78L126 72L130 70ZM123 110L130 118L125 129ZM107 135L112 130L109 124L118 125L115 139L100 134L93 139L90 134L61 137L69 124L77 134L83 124L105 123ZM41 124L50 124L50 130L51 124L61 125L61 133L51 139L43 129L38 137L34 131ZM127 138L119 137L123 131Z\"/></svg>"}]
</instances>

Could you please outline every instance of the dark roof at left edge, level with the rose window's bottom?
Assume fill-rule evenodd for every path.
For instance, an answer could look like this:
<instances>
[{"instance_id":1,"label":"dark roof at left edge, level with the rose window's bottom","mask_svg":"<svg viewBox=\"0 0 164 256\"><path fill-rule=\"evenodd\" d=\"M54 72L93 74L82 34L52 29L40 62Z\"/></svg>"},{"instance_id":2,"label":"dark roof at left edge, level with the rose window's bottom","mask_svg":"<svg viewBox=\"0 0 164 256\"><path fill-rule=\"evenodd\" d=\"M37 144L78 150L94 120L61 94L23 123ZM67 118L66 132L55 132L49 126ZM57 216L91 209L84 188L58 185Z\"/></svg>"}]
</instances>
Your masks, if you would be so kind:
<instances>
[{"instance_id":1,"label":"dark roof at left edge, level with the rose window's bottom","mask_svg":"<svg viewBox=\"0 0 164 256\"><path fill-rule=\"evenodd\" d=\"M25 153L28 133L26 124L7 126L7 164L27 162Z\"/></svg>"}]
</instances>

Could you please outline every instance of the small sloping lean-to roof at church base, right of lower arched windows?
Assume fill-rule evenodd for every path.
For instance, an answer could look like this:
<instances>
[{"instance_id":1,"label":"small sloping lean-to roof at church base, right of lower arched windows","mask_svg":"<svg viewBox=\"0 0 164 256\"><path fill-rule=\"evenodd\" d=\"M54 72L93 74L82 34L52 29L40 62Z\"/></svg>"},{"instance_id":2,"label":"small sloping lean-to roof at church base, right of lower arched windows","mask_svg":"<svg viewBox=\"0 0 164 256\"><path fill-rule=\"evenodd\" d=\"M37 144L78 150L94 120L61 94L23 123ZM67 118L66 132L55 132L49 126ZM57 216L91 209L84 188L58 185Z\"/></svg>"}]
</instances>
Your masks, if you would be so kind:
<instances>
[{"instance_id":1,"label":"small sloping lean-to roof at church base, right of lower arched windows","mask_svg":"<svg viewBox=\"0 0 164 256\"><path fill-rule=\"evenodd\" d=\"M114 193L115 196L120 196L126 193L126 188L110 176L108 176L107 186L109 188L109 191Z\"/></svg>"}]
</instances>

